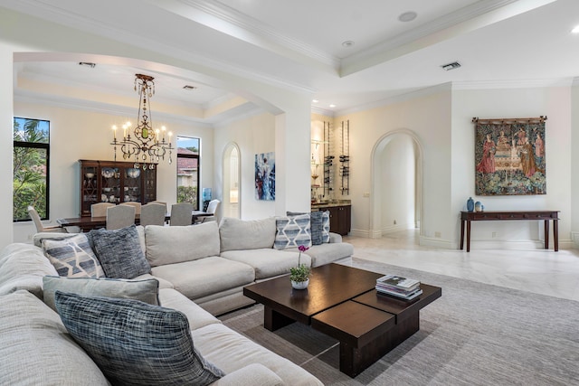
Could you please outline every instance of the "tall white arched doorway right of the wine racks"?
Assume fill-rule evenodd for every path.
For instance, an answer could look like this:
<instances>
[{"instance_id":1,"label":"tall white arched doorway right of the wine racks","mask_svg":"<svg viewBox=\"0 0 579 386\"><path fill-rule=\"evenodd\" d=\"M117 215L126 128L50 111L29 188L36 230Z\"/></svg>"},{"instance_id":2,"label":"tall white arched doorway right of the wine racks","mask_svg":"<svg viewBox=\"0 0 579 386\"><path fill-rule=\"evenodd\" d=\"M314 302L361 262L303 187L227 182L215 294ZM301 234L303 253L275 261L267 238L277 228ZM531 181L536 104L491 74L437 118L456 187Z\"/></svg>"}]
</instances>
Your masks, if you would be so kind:
<instances>
[{"instance_id":1,"label":"tall white arched doorway right of the wine racks","mask_svg":"<svg viewBox=\"0 0 579 386\"><path fill-rule=\"evenodd\" d=\"M420 229L422 146L411 130L394 130L376 142L372 151L371 197L368 237Z\"/></svg>"}]
</instances>

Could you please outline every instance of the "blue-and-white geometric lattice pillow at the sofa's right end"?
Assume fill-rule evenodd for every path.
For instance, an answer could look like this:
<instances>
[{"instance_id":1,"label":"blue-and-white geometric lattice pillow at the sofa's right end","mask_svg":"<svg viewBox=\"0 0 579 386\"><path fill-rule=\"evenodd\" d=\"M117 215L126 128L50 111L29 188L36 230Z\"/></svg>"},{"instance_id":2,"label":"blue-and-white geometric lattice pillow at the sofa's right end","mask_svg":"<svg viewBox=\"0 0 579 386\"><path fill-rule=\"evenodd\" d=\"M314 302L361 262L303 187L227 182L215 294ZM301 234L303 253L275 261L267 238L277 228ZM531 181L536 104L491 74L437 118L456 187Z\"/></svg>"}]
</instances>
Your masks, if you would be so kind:
<instances>
[{"instance_id":1,"label":"blue-and-white geometric lattice pillow at the sofa's right end","mask_svg":"<svg viewBox=\"0 0 579 386\"><path fill-rule=\"evenodd\" d=\"M309 213L298 216L279 217L275 221L275 249L311 247Z\"/></svg>"}]
</instances>

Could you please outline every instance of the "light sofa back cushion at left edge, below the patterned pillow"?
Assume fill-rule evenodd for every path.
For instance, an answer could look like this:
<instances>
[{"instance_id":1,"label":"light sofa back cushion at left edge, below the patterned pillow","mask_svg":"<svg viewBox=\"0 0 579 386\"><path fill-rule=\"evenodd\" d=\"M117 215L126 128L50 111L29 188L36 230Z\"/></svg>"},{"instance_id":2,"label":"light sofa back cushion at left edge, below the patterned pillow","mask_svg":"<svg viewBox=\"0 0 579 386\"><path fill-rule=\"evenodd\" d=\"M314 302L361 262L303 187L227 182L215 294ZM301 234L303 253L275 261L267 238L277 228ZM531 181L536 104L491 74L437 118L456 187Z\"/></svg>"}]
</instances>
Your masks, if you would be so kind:
<instances>
[{"instance_id":1,"label":"light sofa back cushion at left edge, below the patterned pillow","mask_svg":"<svg viewBox=\"0 0 579 386\"><path fill-rule=\"evenodd\" d=\"M42 300L45 275L58 273L42 249L13 243L0 251L0 296L25 289Z\"/></svg>"}]
</instances>

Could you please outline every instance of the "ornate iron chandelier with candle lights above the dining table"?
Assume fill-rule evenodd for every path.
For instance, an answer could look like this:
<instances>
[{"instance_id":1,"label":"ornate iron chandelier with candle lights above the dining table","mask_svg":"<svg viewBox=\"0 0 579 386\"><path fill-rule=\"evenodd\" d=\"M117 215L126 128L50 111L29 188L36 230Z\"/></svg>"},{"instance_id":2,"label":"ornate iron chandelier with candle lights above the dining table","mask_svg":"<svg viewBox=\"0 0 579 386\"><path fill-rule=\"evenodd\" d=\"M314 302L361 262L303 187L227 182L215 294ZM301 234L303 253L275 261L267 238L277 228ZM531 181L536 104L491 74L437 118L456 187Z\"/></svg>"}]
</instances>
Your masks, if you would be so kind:
<instances>
[{"instance_id":1,"label":"ornate iron chandelier with candle lights above the dining table","mask_svg":"<svg viewBox=\"0 0 579 386\"><path fill-rule=\"evenodd\" d=\"M143 164L143 170L154 169L159 160L165 160L166 152L169 152L169 164L173 146L171 146L171 136L173 133L166 132L166 127L153 128L151 119L151 108L149 100L155 94L155 78L143 75L135 75L135 91L138 90L138 116L137 127L132 129L131 123L127 122L122 126L123 137L117 139L117 126L113 126L113 140L110 145L115 146L115 161L117 161L117 146L119 146L123 159L134 157L134 167L138 169ZM167 139L165 139L167 135Z\"/></svg>"}]
</instances>

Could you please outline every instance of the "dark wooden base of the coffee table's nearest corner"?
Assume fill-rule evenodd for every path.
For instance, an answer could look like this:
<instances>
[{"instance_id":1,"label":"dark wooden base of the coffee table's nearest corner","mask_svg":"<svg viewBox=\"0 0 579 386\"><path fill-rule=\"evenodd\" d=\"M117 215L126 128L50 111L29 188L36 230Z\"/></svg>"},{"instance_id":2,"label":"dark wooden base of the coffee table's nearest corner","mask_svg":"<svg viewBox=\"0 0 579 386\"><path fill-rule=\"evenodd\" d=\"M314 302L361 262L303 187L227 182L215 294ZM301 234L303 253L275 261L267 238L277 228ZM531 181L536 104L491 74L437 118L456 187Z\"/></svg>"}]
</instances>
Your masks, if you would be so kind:
<instances>
[{"instance_id":1,"label":"dark wooden base of the coffee table's nearest corner","mask_svg":"<svg viewBox=\"0 0 579 386\"><path fill-rule=\"evenodd\" d=\"M340 342L340 372L354 378L420 329L419 313L362 347Z\"/></svg>"}]
</instances>

